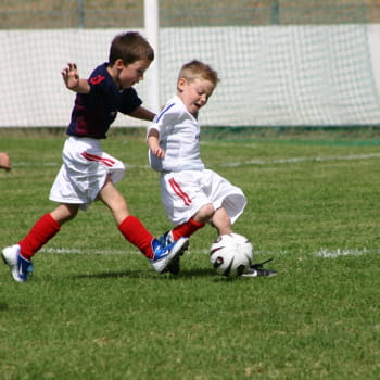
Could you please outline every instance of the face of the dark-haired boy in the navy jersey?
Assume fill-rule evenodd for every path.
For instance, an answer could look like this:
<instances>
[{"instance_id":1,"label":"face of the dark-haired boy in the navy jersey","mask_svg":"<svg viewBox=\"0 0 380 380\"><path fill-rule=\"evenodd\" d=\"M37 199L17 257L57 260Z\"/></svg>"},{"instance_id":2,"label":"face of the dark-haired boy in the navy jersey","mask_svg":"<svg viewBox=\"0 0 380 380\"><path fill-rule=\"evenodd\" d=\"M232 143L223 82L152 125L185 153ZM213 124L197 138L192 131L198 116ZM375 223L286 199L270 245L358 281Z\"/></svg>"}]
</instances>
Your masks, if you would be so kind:
<instances>
[{"instance_id":1,"label":"face of the dark-haired boy in the navy jersey","mask_svg":"<svg viewBox=\"0 0 380 380\"><path fill-rule=\"evenodd\" d=\"M116 86L121 89L132 87L143 79L143 75L150 64L151 61L141 60L125 65L122 60L117 60L113 65L113 78L116 83Z\"/></svg>"}]
</instances>

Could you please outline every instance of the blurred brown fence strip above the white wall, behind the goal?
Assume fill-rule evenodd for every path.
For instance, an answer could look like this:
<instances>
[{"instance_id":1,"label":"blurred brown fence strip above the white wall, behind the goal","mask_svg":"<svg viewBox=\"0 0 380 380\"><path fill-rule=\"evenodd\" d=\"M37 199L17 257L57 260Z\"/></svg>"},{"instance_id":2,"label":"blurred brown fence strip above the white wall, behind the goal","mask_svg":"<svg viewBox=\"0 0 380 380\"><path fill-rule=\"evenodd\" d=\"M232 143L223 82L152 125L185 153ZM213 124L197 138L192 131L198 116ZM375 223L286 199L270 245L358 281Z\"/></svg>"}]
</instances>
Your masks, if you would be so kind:
<instances>
[{"instance_id":1,"label":"blurred brown fence strip above the white wall, behind the goal","mask_svg":"<svg viewBox=\"0 0 380 380\"><path fill-rule=\"evenodd\" d=\"M2 0L0 29L141 28L143 5L143 0ZM162 27L379 22L379 0L160 1Z\"/></svg>"}]
</instances>

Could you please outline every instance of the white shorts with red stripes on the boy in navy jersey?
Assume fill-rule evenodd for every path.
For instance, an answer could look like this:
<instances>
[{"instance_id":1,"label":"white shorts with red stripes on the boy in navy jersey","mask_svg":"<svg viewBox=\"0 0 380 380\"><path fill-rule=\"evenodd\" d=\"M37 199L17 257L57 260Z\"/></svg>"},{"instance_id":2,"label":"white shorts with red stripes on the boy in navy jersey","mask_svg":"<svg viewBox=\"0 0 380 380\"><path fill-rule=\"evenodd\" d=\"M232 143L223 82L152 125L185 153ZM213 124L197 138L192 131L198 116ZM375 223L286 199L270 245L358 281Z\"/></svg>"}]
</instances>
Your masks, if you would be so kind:
<instances>
[{"instance_id":1,"label":"white shorts with red stripes on the boy in navy jersey","mask_svg":"<svg viewBox=\"0 0 380 380\"><path fill-rule=\"evenodd\" d=\"M50 190L49 199L59 203L79 204L87 210L105 183L114 183L125 174L124 164L104 153L100 140L69 137L63 148L63 165Z\"/></svg>"}]
</instances>

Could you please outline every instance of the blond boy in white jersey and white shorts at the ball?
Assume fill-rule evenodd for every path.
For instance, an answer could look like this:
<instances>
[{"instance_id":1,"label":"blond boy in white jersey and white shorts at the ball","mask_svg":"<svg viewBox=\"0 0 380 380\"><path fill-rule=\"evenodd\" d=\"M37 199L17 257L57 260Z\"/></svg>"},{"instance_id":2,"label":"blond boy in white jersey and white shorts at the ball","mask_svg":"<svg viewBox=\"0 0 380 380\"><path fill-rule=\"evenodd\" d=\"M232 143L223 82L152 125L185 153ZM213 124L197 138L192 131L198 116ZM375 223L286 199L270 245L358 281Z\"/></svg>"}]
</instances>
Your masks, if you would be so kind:
<instances>
[{"instance_id":1,"label":"blond boy in white jersey and white shorts at the ball","mask_svg":"<svg viewBox=\"0 0 380 380\"><path fill-rule=\"evenodd\" d=\"M206 223L217 235L232 233L232 224L242 214L246 199L242 190L217 173L206 169L200 154L198 112L212 96L218 74L200 61L185 64L174 96L148 129L149 161L161 173L161 197L170 221L176 226L164 238L175 241L190 237ZM168 265L179 273L179 255ZM259 265L244 277L274 276Z\"/></svg>"}]
</instances>

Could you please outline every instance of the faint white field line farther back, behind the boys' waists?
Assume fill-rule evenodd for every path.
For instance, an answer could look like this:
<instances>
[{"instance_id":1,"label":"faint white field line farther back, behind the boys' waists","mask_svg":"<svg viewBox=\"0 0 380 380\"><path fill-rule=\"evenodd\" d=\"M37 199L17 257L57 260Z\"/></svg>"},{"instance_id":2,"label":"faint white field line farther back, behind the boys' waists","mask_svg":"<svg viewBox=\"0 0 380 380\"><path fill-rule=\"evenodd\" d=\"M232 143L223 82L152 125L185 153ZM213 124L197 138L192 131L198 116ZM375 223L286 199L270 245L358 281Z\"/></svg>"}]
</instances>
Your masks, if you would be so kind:
<instances>
[{"instance_id":1,"label":"faint white field line farther back, behind the boys' waists","mask_svg":"<svg viewBox=\"0 0 380 380\"><path fill-rule=\"evenodd\" d=\"M355 160L369 160L369 159L380 159L380 153L368 153L368 154L350 154L350 155L331 155L331 156L317 156L317 157L288 157L288 159L276 159L276 160L250 160L244 162L231 162L224 163L213 166L221 166L221 167L239 167L239 166L250 166L250 165L273 165L273 164L294 164L294 163L303 163L303 162L329 162L329 161L355 161ZM18 162L14 163L14 167L23 167L23 166L60 166L61 163L27 163L27 162ZM149 165L129 165L125 164L126 168L147 168L149 169Z\"/></svg>"}]
</instances>

